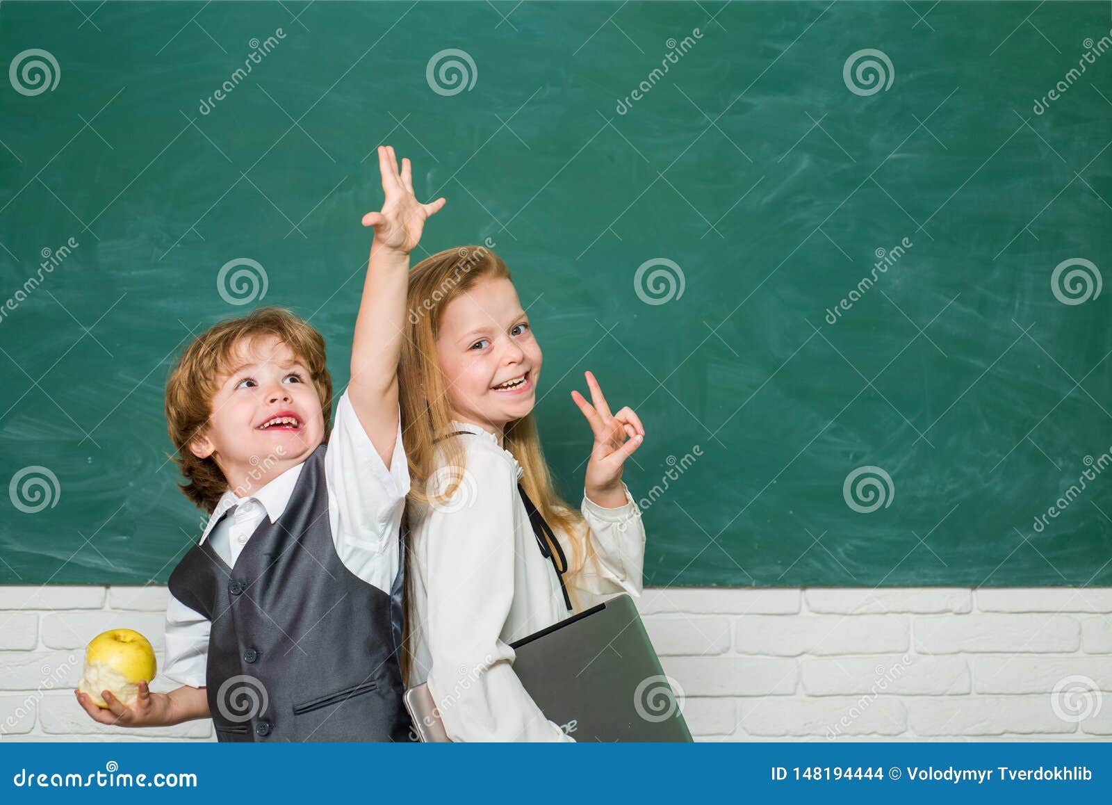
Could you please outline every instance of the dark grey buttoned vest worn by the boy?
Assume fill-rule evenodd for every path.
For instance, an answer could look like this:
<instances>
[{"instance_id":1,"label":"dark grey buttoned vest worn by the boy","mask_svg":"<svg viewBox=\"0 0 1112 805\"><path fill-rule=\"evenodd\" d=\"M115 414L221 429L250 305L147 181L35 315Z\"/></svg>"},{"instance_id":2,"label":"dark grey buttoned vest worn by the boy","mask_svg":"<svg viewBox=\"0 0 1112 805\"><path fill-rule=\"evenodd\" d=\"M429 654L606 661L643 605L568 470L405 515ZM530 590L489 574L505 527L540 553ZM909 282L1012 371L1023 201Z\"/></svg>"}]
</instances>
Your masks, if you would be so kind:
<instances>
[{"instance_id":1,"label":"dark grey buttoned vest worn by the boy","mask_svg":"<svg viewBox=\"0 0 1112 805\"><path fill-rule=\"evenodd\" d=\"M170 574L170 593L211 622L206 685L219 741L411 739L399 664L405 540L389 594L347 569L328 523L325 450L234 567L205 540Z\"/></svg>"}]
</instances>

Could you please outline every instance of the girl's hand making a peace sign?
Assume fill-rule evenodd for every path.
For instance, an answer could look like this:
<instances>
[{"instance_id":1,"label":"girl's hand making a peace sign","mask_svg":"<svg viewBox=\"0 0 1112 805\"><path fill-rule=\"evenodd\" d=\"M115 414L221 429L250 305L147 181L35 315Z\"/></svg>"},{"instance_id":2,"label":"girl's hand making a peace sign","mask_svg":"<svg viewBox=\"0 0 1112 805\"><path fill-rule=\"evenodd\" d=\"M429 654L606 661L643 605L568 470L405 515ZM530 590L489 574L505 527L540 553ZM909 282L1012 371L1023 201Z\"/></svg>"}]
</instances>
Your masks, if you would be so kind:
<instances>
[{"instance_id":1,"label":"girl's hand making a peace sign","mask_svg":"<svg viewBox=\"0 0 1112 805\"><path fill-rule=\"evenodd\" d=\"M595 435L584 487L587 497L595 503L617 508L625 503L624 493L618 495L622 490L622 467L634 450L641 447L645 427L629 406L617 414L610 414L595 376L589 371L584 372L584 376L594 405L587 402L578 391L572 391L572 399L579 406ZM609 506L609 503L614 505Z\"/></svg>"}]
</instances>

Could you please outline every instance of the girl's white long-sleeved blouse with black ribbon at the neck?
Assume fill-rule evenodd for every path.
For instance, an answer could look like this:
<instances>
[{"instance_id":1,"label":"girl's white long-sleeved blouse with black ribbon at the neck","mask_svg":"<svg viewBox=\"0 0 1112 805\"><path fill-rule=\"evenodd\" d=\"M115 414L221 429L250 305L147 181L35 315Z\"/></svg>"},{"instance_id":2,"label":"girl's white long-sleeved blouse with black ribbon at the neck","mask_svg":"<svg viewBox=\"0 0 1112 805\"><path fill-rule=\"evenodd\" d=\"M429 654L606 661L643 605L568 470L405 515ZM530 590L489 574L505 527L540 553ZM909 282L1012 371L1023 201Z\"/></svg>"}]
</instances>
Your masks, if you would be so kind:
<instances>
[{"instance_id":1,"label":"girl's white long-sleeved blouse with black ribbon at the neck","mask_svg":"<svg viewBox=\"0 0 1112 805\"><path fill-rule=\"evenodd\" d=\"M570 742L513 669L510 643L573 615L518 495L524 470L494 434L453 424L477 436L456 437L463 439L466 468L451 498L410 513L414 664L407 683L428 682L453 741ZM594 550L583 570L565 577L579 612L618 593L641 595L645 529L628 488L625 493L619 508L604 508L584 495ZM573 561L568 535L555 525L553 531Z\"/></svg>"}]
</instances>

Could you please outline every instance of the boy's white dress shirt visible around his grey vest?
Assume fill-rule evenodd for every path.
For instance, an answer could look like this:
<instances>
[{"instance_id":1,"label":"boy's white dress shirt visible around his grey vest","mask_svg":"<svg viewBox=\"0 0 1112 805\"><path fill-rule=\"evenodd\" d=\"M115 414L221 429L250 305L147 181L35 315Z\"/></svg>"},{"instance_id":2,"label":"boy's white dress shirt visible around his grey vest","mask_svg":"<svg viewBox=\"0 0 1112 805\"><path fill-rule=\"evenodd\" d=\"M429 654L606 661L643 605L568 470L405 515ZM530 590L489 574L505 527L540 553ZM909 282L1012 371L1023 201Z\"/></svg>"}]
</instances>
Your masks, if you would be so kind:
<instances>
[{"instance_id":1,"label":"boy's white dress shirt visible around his grey vest","mask_svg":"<svg viewBox=\"0 0 1112 805\"><path fill-rule=\"evenodd\" d=\"M212 547L228 564L229 574L262 518L269 517L274 523L285 511L304 467L304 461L290 467L248 497L240 498L228 490L217 503L200 541L212 540ZM328 525L337 556L364 582L389 593L398 569L397 535L409 491L400 416L387 469L345 391L336 406L336 421L328 437L325 480ZM232 506L236 510L221 520ZM170 595L162 676L182 685L205 686L210 627L203 615Z\"/></svg>"}]
</instances>

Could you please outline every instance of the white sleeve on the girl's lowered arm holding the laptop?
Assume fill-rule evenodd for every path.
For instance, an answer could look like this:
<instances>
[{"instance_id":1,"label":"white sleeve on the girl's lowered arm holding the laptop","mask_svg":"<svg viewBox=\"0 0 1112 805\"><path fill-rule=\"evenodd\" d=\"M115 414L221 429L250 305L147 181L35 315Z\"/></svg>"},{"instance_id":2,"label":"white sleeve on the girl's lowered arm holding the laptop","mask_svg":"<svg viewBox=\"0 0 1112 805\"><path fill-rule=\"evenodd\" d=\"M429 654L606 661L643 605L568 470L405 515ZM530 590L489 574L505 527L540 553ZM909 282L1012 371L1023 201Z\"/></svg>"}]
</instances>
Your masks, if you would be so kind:
<instances>
[{"instance_id":1,"label":"white sleeve on the girl's lowered arm holding the laptop","mask_svg":"<svg viewBox=\"0 0 1112 805\"><path fill-rule=\"evenodd\" d=\"M514 469L481 450L468 453L465 473L429 510L429 693L453 741L574 742L525 690L500 637L514 598Z\"/></svg>"}]
</instances>

